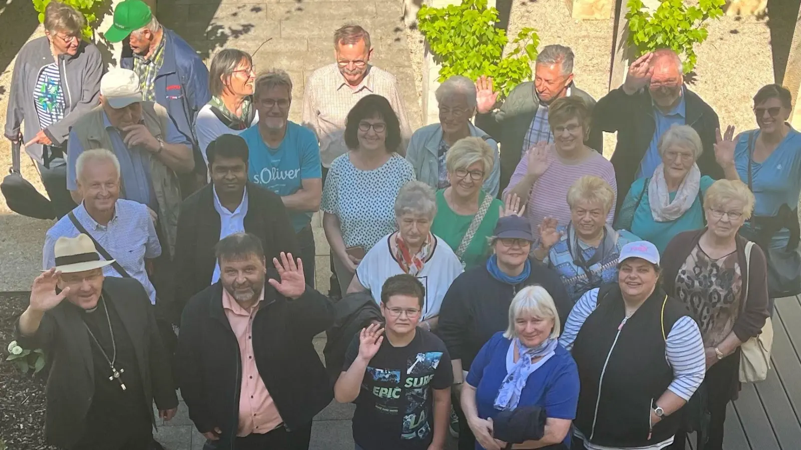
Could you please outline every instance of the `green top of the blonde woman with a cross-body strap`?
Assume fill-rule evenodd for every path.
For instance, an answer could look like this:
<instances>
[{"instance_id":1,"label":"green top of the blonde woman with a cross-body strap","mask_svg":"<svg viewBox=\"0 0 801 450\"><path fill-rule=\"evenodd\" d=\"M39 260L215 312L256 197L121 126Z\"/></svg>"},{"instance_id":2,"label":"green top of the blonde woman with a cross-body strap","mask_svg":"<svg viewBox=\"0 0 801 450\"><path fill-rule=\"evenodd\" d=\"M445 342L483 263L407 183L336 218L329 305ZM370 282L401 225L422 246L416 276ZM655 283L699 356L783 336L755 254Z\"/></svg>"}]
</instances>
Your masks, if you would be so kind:
<instances>
[{"instance_id":1,"label":"green top of the blonde woman with a cross-body strap","mask_svg":"<svg viewBox=\"0 0 801 450\"><path fill-rule=\"evenodd\" d=\"M461 239L465 237L465 233L470 227L470 222L473 221L473 215L459 215L453 212L448 206L448 202L445 201L443 192L445 192L444 189L437 191L437 216L434 217L434 222L431 224L431 232L445 240L445 243L453 251L457 251ZM485 195L487 194L481 191L478 198L479 205L484 201ZM466 269L484 263L489 255L487 238L493 235L501 207L503 207L503 202L499 199L493 199L493 203L489 205L489 210L484 215L481 225L478 226L476 234L473 235L473 240L467 246L465 254L461 255L461 262Z\"/></svg>"}]
</instances>

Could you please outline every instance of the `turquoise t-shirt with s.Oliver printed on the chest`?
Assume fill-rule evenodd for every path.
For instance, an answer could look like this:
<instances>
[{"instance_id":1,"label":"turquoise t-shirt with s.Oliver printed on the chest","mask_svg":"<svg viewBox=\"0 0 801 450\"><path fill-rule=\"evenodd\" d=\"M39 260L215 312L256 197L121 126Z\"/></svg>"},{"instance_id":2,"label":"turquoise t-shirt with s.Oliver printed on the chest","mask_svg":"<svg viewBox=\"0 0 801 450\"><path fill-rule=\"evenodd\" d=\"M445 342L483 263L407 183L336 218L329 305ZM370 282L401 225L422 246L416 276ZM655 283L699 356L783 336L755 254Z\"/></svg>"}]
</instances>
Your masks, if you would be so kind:
<instances>
[{"instance_id":1,"label":"turquoise t-shirt with s.Oliver printed on the chest","mask_svg":"<svg viewBox=\"0 0 801 450\"><path fill-rule=\"evenodd\" d=\"M287 133L278 148L269 148L261 139L259 126L243 131L248 143L248 179L278 195L292 195L304 179L322 178L320 145L314 133L297 123L287 122ZM295 232L312 221L312 212L289 211Z\"/></svg>"}]
</instances>

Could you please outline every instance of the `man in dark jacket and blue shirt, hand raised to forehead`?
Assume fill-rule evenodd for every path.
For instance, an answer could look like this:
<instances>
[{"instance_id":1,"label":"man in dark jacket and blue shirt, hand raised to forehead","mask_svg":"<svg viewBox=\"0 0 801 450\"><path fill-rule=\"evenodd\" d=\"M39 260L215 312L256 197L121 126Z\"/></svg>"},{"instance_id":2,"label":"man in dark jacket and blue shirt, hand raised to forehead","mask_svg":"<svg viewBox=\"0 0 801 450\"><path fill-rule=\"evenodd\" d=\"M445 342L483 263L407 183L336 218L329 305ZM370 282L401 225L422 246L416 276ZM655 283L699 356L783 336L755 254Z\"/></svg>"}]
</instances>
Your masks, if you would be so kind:
<instances>
[{"instance_id":1,"label":"man in dark jacket and blue shirt, hand raised to forehead","mask_svg":"<svg viewBox=\"0 0 801 450\"><path fill-rule=\"evenodd\" d=\"M659 49L631 63L626 82L598 100L593 125L618 133L612 155L618 181L618 211L635 179L650 177L662 163L659 139L674 125L689 125L701 137L698 157L701 175L722 179L723 168L714 160L718 115L711 106L687 89L682 61L673 50Z\"/></svg>"}]
</instances>

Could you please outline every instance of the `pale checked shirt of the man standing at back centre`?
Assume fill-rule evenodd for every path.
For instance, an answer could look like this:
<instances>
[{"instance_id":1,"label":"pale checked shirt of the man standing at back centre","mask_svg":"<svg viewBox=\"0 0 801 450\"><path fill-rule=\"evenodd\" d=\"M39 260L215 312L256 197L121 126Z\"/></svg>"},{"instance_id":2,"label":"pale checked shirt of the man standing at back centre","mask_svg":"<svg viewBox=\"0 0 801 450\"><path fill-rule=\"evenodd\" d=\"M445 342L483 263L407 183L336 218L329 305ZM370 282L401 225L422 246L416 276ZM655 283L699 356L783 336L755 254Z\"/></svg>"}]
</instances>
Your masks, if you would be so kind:
<instances>
[{"instance_id":1,"label":"pale checked shirt of the man standing at back centre","mask_svg":"<svg viewBox=\"0 0 801 450\"><path fill-rule=\"evenodd\" d=\"M314 131L320 140L320 161L324 167L329 167L337 156L348 151L344 142L345 119L356 102L369 94L383 96L389 101L392 110L395 110L403 139L401 148L397 150L400 153L405 152L412 130L395 76L386 70L370 66L361 84L351 88L334 62L309 75L301 113L304 127Z\"/></svg>"}]
</instances>

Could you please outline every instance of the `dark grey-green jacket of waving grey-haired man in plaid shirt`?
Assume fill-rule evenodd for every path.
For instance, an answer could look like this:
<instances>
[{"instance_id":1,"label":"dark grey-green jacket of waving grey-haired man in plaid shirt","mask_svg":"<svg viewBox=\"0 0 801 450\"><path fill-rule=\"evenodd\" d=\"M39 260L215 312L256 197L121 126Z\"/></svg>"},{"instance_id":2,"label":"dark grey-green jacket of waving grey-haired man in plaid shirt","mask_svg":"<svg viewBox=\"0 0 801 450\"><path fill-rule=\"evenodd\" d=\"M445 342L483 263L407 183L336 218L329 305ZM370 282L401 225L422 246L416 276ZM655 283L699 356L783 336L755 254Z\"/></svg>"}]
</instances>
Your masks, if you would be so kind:
<instances>
[{"instance_id":1,"label":"dark grey-green jacket of waving grey-haired man in plaid shirt","mask_svg":"<svg viewBox=\"0 0 801 450\"><path fill-rule=\"evenodd\" d=\"M585 91L578 89L572 83L570 95L582 98L590 110L595 106L595 99ZM476 115L476 127L489 133L497 142L501 143L501 187L498 190L500 197L503 190L509 186L517 163L520 163L521 150L526 133L529 132L531 121L537 113L540 100L534 82L521 82L509 92L501 109L488 114ZM590 134L585 144L598 153L603 153L603 133L590 125ZM528 149L525 149L528 150Z\"/></svg>"}]
</instances>

